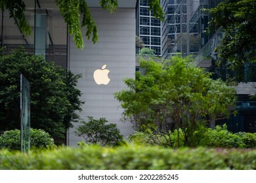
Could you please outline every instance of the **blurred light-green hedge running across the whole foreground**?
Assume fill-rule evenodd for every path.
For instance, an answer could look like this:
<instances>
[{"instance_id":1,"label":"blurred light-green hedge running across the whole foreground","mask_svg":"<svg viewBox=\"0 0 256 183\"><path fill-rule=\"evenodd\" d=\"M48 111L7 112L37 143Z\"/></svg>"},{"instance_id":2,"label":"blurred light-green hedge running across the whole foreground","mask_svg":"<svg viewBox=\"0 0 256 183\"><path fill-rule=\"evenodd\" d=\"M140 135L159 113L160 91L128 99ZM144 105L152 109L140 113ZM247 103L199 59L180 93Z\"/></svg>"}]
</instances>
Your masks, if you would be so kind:
<instances>
[{"instance_id":1,"label":"blurred light-green hedge running across the whole foreground","mask_svg":"<svg viewBox=\"0 0 256 183\"><path fill-rule=\"evenodd\" d=\"M0 150L0 169L211 170L256 169L256 149L120 146L57 148L28 154Z\"/></svg>"}]
</instances>

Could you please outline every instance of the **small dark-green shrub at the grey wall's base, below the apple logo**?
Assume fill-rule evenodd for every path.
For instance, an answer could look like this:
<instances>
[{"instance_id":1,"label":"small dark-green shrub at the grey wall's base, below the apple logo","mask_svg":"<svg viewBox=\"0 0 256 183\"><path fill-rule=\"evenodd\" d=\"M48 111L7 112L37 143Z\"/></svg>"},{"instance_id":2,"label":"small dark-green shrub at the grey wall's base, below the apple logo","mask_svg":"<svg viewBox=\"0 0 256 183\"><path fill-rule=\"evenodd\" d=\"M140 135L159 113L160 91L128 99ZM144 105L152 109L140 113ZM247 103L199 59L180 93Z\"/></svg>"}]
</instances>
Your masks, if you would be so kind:
<instances>
[{"instance_id":1,"label":"small dark-green shrub at the grey wall's base, below the apple logo","mask_svg":"<svg viewBox=\"0 0 256 183\"><path fill-rule=\"evenodd\" d=\"M83 137L85 142L89 144L100 144L101 146L123 144L123 136L116 124L106 124L107 122L105 118L96 119L88 116L88 122L82 121L75 133L77 136Z\"/></svg>"}]
</instances>

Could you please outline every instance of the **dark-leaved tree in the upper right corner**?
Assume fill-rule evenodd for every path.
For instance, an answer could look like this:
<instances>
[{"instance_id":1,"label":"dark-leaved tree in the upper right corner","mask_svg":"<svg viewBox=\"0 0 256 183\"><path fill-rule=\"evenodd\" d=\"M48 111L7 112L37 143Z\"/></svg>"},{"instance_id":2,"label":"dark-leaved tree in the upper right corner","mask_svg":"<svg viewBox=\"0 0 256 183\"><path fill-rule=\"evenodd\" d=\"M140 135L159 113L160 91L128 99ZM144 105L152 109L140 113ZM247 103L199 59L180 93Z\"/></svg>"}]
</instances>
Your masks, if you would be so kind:
<instances>
[{"instance_id":1,"label":"dark-leaved tree in the upper right corner","mask_svg":"<svg viewBox=\"0 0 256 183\"><path fill-rule=\"evenodd\" d=\"M219 65L228 64L236 80L246 81L247 64L256 61L256 1L226 0L208 11L209 30L222 27L224 31L217 48Z\"/></svg>"}]
</instances>

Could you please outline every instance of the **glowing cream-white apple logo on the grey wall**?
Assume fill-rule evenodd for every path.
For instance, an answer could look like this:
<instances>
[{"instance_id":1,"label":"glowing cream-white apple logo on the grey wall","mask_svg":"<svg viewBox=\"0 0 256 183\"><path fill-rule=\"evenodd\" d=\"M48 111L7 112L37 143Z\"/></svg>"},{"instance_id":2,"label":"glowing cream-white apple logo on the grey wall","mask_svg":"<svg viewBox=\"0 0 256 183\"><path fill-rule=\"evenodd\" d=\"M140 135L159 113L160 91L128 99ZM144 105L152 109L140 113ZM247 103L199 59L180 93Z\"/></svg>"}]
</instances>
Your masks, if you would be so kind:
<instances>
[{"instance_id":1,"label":"glowing cream-white apple logo on the grey wall","mask_svg":"<svg viewBox=\"0 0 256 183\"><path fill-rule=\"evenodd\" d=\"M95 79L96 84L108 84L110 82L108 73L110 73L110 70L106 69L106 64L103 65L101 69L97 69L93 73L93 78Z\"/></svg>"}]
</instances>

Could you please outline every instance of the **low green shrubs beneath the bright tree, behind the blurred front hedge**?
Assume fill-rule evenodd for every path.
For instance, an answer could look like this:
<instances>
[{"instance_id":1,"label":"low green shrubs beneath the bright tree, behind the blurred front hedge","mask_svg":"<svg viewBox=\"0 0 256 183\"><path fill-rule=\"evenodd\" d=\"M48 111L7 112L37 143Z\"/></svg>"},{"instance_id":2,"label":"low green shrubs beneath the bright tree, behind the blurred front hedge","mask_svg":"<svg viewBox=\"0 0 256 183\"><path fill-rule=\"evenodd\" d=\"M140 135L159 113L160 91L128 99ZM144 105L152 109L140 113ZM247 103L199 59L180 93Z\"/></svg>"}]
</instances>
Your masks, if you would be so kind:
<instances>
[{"instance_id":1,"label":"low green shrubs beneath the bright tree, behind the blurred front hedge","mask_svg":"<svg viewBox=\"0 0 256 183\"><path fill-rule=\"evenodd\" d=\"M184 147L184 133L179 129L179 147ZM215 129L204 128L194 131L194 146L207 148L256 148L256 133L232 133L226 125L217 125ZM162 146L177 148L177 130L173 133L144 133L135 131L129 136L129 142L144 146Z\"/></svg>"}]
</instances>

